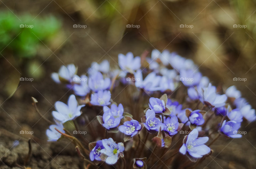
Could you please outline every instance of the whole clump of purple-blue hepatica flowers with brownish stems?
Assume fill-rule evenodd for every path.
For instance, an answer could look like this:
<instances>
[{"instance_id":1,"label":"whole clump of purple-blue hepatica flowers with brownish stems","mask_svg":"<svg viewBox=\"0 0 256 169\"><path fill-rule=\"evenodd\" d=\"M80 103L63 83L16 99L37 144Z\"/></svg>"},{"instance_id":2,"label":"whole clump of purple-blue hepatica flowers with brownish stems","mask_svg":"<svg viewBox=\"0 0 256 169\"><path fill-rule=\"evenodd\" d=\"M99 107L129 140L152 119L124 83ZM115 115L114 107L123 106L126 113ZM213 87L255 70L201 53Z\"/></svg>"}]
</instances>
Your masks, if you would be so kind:
<instances>
[{"instance_id":1,"label":"whole clump of purple-blue hepatica flowers with brownish stems","mask_svg":"<svg viewBox=\"0 0 256 169\"><path fill-rule=\"evenodd\" d=\"M119 68L110 67L107 60L99 64L93 62L87 74L81 76L77 75L78 69L73 64L63 65L58 73L53 73L53 80L64 83L73 94L67 104L55 103L56 111L52 115L56 124L46 130L49 141L57 141L61 135L72 138L86 157L78 154L90 158L90 164L106 162L125 168L124 165L133 163L133 168L147 168L147 165L161 168L163 164L152 159L153 155L147 150L154 149L154 154L164 152L163 148L172 147L172 139L183 139L183 144L174 144L176 148L171 149L179 150L176 154L188 158L173 161L175 153L172 155L169 151L168 155L161 153L162 158L169 161L167 165L175 163L180 168L195 168L197 163L190 161L209 156L212 152L210 145L218 138L210 137L210 132L239 138L242 135L237 131L242 121L255 120L255 109L241 98L241 92L235 86L226 90L213 86L192 60L168 50L153 50L150 57L144 55L119 54ZM112 99L111 94L115 96ZM119 94L121 99L115 100ZM82 114L81 109L86 113ZM77 117L87 119L82 124L87 123L85 128L88 126L86 129L90 130L86 137L90 143L85 143L89 150L65 128L68 122L79 124ZM74 129L78 130L76 125ZM209 139L211 143L206 145ZM92 142L95 140L98 141ZM124 154L127 155L124 157ZM119 158L122 162L118 162Z\"/></svg>"}]
</instances>

